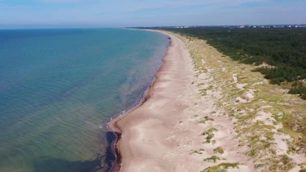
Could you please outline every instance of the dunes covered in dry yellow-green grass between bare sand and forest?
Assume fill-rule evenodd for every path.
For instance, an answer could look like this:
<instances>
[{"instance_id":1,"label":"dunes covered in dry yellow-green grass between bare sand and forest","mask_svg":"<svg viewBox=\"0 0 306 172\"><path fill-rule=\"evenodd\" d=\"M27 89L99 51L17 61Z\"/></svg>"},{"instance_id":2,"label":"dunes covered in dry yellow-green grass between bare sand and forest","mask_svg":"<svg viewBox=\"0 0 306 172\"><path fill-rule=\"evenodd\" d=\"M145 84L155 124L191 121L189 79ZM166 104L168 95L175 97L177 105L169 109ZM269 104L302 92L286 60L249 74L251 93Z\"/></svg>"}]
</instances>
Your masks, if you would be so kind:
<instances>
[{"instance_id":1,"label":"dunes covered in dry yellow-green grass between bare sand and forest","mask_svg":"<svg viewBox=\"0 0 306 172\"><path fill-rule=\"evenodd\" d=\"M245 148L244 154L256 164L255 167L263 171L288 171L296 166L290 157L306 153L306 101L287 94L288 90L279 85L269 84L262 74L251 71L255 66L224 56L206 41L176 36L184 41L193 58L199 78L193 84L199 89L199 97L207 96L208 91L214 92L216 88L222 91L218 108L235 121L239 146ZM208 73L213 79L209 83L202 82L202 73ZM207 117L199 122L209 120L213 119ZM209 130L203 132L206 143L214 137L213 129ZM275 142L275 135L280 133L290 139L285 141L288 150L277 153L281 149ZM215 169L226 168L219 165L203 171Z\"/></svg>"}]
</instances>

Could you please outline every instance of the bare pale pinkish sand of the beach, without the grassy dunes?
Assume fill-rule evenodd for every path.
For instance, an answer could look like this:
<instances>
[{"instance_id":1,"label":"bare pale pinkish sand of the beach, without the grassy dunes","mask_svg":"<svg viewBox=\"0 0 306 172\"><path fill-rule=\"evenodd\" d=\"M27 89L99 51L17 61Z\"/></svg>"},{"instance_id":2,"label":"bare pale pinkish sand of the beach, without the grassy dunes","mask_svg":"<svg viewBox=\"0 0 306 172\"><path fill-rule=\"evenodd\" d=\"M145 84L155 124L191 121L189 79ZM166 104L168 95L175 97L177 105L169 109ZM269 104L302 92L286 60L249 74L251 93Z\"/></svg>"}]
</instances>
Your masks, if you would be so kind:
<instances>
[{"instance_id":1,"label":"bare pale pinkish sand of the beach, without the grassy dunes","mask_svg":"<svg viewBox=\"0 0 306 172\"><path fill-rule=\"evenodd\" d=\"M198 121L206 116L203 113L211 118L210 113L216 111L215 103L220 93L213 93L213 98L197 98L198 89L192 84L196 72L189 52L182 40L162 33L171 38L172 45L146 101L112 121L112 125L122 133L117 143L122 156L120 171L200 171L214 162L204 162L203 156L199 156L202 153L197 155L192 151L209 149L205 150L205 157L210 157L214 154L213 149L221 145L216 144L218 140L223 140L223 148L229 150L223 154L223 159L227 157L227 161L233 163L244 162L244 158L232 150L237 147L238 141L234 139L232 121L226 118L216 118L214 122L214 125L223 128L214 145L202 144L202 132L211 128L212 121L206 124Z\"/></svg>"}]
</instances>

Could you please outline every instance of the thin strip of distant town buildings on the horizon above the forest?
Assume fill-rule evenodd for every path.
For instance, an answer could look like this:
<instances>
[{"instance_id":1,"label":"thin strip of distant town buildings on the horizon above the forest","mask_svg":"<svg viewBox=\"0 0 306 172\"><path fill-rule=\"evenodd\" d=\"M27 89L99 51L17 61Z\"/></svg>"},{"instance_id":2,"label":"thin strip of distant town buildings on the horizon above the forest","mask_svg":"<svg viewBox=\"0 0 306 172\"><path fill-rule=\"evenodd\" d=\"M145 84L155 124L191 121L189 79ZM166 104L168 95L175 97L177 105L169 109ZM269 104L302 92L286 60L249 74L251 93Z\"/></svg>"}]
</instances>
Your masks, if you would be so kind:
<instances>
[{"instance_id":1,"label":"thin strip of distant town buildings on the horizon above the forest","mask_svg":"<svg viewBox=\"0 0 306 172\"><path fill-rule=\"evenodd\" d=\"M306 28L306 24L294 25L228 25L228 26L159 26L154 28Z\"/></svg>"}]
</instances>

